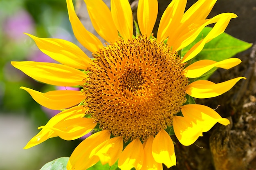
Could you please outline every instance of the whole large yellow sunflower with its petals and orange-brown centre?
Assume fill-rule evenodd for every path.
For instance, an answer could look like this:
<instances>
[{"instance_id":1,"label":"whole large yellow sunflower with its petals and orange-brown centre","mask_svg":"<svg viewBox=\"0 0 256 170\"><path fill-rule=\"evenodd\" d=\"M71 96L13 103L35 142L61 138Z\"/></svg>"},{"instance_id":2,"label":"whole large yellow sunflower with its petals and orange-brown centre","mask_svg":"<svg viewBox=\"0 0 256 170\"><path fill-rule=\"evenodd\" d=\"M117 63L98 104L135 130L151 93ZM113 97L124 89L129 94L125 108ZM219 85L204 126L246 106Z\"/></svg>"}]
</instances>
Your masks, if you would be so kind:
<instances>
[{"instance_id":1,"label":"whole large yellow sunflower with its petals and orange-brown centre","mask_svg":"<svg viewBox=\"0 0 256 170\"><path fill-rule=\"evenodd\" d=\"M215 110L188 102L189 97L210 98L229 91L240 79L213 83L189 82L214 67L229 69L241 61L200 60L186 64L224 32L234 13L206 19L216 0L198 0L185 13L186 0L173 0L164 11L156 38L157 0L139 0L137 21L140 33L133 35L132 11L128 0L111 0L111 11L102 0L85 0L94 29L106 40L87 31L77 17L72 0L67 10L76 39L92 52L91 60L75 44L29 35L38 48L57 62L11 62L28 76L56 86L80 86L81 91L40 93L27 91L39 104L63 110L52 117L25 149L51 137L74 140L93 129L96 132L76 147L68 170L84 170L98 161L122 170L162 169L176 165L173 128L184 146L193 144L202 132L219 122L228 125ZM180 51L191 44L202 29L216 23L209 34L183 57ZM94 130L95 131L95 130Z\"/></svg>"}]
</instances>

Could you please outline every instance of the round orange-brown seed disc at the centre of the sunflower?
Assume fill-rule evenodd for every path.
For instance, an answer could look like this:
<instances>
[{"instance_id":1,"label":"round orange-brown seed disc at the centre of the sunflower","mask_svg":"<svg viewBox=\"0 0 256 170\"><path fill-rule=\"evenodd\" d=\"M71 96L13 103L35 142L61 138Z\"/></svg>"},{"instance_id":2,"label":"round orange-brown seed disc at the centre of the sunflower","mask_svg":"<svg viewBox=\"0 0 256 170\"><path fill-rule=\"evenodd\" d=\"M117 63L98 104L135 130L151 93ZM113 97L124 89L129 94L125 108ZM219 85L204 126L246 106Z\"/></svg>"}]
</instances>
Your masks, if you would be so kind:
<instances>
[{"instance_id":1,"label":"round orange-brown seed disc at the centre of the sunflower","mask_svg":"<svg viewBox=\"0 0 256 170\"><path fill-rule=\"evenodd\" d=\"M186 102L188 79L177 52L139 36L100 49L84 80L85 106L102 130L145 141L167 126Z\"/></svg>"}]
</instances>

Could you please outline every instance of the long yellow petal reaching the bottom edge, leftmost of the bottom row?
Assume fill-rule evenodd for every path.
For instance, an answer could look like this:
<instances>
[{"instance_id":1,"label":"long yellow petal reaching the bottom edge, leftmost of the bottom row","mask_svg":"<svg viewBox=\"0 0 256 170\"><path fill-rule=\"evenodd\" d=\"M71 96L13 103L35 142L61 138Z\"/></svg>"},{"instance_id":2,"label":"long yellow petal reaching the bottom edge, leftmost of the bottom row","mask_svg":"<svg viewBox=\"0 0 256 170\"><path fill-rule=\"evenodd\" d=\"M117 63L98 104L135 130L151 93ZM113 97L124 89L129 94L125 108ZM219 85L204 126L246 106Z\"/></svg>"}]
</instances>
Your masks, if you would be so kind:
<instances>
[{"instance_id":1,"label":"long yellow petal reaching the bottom edge, leftmost of the bottom row","mask_svg":"<svg viewBox=\"0 0 256 170\"><path fill-rule=\"evenodd\" d=\"M99 161L93 150L110 138L109 130L94 133L83 140L73 151L67 162L67 170L86 170Z\"/></svg>"}]
</instances>

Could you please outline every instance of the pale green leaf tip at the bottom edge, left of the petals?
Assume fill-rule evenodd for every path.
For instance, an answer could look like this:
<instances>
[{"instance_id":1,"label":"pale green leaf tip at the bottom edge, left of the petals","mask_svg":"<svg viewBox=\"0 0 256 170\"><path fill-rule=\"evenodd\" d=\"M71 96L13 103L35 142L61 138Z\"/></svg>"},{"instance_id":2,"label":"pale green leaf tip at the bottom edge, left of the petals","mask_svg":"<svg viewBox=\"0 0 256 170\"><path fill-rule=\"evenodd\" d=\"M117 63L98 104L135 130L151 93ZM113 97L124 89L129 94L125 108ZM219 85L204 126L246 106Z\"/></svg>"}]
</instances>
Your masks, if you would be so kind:
<instances>
[{"instance_id":1,"label":"pale green leaf tip at the bottom edge, left of the petals","mask_svg":"<svg viewBox=\"0 0 256 170\"><path fill-rule=\"evenodd\" d=\"M69 157L61 157L46 163L40 170L67 170L67 161Z\"/></svg>"}]
</instances>

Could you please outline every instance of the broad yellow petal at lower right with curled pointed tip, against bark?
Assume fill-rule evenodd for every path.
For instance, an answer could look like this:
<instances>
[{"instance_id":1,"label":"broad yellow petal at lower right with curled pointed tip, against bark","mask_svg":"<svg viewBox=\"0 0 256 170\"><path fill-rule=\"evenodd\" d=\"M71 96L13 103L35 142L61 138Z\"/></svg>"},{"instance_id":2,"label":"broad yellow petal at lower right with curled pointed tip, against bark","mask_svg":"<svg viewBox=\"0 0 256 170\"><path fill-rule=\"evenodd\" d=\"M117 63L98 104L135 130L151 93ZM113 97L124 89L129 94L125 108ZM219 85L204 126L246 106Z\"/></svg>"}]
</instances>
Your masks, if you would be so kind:
<instances>
[{"instance_id":1,"label":"broad yellow petal at lower right with curled pointed tip, against bark","mask_svg":"<svg viewBox=\"0 0 256 170\"><path fill-rule=\"evenodd\" d=\"M202 132L207 132L217 122L228 125L230 122L222 118L215 110L200 104L181 106L182 115L173 118L173 128L177 139L184 146L193 144Z\"/></svg>"}]
</instances>

